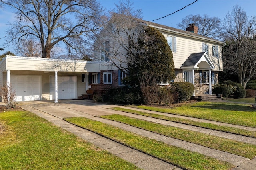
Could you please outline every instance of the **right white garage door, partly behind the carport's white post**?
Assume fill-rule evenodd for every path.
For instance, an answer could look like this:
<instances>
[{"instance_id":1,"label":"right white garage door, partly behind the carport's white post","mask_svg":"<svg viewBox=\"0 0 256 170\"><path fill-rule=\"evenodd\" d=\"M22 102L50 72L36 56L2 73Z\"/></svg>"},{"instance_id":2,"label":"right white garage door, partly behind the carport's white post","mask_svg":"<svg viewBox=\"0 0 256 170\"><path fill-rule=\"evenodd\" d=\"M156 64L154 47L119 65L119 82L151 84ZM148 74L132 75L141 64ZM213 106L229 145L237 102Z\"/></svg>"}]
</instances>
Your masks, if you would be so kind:
<instances>
[{"instance_id":1,"label":"right white garage door, partly behind the carport's white post","mask_svg":"<svg viewBox=\"0 0 256 170\"><path fill-rule=\"evenodd\" d=\"M76 76L58 76L58 99L76 98ZM50 100L55 98L54 76L50 76Z\"/></svg>"}]
</instances>

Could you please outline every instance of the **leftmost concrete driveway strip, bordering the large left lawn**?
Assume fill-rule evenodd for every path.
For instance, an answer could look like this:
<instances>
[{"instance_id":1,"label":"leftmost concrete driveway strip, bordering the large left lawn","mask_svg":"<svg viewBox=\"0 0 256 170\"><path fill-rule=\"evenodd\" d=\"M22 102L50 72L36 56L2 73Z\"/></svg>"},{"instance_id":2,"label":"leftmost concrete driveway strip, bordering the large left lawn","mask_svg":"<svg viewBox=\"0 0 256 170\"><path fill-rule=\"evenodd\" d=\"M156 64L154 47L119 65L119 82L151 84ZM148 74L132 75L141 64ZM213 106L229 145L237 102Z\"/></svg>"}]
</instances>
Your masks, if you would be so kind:
<instances>
[{"instance_id":1,"label":"leftmost concrete driveway strip, bordering the large left lawn","mask_svg":"<svg viewBox=\"0 0 256 170\"><path fill-rule=\"evenodd\" d=\"M169 164L167 162L164 162L162 160L153 158L152 156L149 156L148 154L144 154L140 151L131 149L130 147L126 147L124 145L121 145L120 143L114 142L110 139L107 139L105 137L102 137L98 134L95 134L91 131L88 131L86 129L82 129L80 127L77 127L75 125L72 125L70 123L67 123L66 121L56 117L56 115L59 115L58 111L56 112L56 107L54 109L44 109L44 111L40 111L38 109L35 109L31 106L28 105L22 105L20 106L23 109L26 109L28 111L31 111L32 113L35 113L39 116L43 116L44 119L62 127L63 129L74 133L81 137L82 139L96 145L97 147L100 147L103 150L107 150L108 152L123 158L124 160L131 162L138 166L139 168L142 168L144 170L179 170L180 168L177 168L176 166ZM47 107L47 106L44 106ZM40 109L43 109L43 107L40 107ZM50 112L49 115L48 113L45 113L45 111ZM47 115L47 116L46 116ZM71 115L71 114L68 114ZM59 115L60 117L63 117L64 115ZM65 117L65 116L64 116ZM72 115L74 117L74 115Z\"/></svg>"}]
</instances>

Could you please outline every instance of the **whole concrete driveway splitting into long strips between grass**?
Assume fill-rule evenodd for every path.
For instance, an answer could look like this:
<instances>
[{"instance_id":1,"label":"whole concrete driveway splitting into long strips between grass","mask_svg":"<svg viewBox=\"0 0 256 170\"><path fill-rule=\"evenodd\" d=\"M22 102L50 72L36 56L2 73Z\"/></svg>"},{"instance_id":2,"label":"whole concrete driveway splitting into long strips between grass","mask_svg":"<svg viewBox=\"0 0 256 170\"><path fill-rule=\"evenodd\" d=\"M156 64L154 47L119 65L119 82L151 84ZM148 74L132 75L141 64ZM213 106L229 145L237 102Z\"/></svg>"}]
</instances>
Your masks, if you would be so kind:
<instances>
[{"instance_id":1,"label":"whole concrete driveway splitting into long strips between grass","mask_svg":"<svg viewBox=\"0 0 256 170\"><path fill-rule=\"evenodd\" d=\"M234 154L229 154L229 153L222 152L219 150L202 147L200 145L188 143L185 141L180 141L178 139L165 137L163 135L159 135L156 133L152 133L152 132L145 131L145 130L142 130L139 128L131 127L129 125L124 125L122 123L102 119L102 118L95 117L95 116L110 115L110 114L128 115L130 117L136 117L138 119L144 119L144 120L148 120L148 121L152 121L152 122L161 123L164 125L170 125L170 126L184 128L184 129L190 129L190 130L198 131L201 133L206 133L206 134L226 137L228 139L234 139L234 140L238 140L238 141L256 144L256 139L254 139L254 138L242 137L240 135L234 135L234 134L230 134L230 133L224 133L224 132L220 132L220 131L214 131L214 130L204 129L204 128L200 128L200 127L184 125L182 123L173 123L170 121L164 121L164 120L148 118L148 117L144 117L144 116L140 116L140 115L134 115L134 114L130 114L130 113L114 111L114 110L110 110L110 109L106 109L106 108L110 108L110 107L127 108L127 107L117 106L117 105L108 105L108 104L96 104L96 103L88 102L85 100L77 101L77 102L66 101L66 102L61 102L58 104L53 104L53 103L49 104L49 103L43 103L43 102L42 102L42 104L24 104L24 105L22 104L20 107L23 107L24 109L31 111L33 113L36 113L37 115L44 117L45 119L48 119L49 121L52 121L52 123L59 125L60 127L82 137L82 139L85 139L98 147L102 147L102 149L106 149L109 152L111 152L112 154L120 156L121 158L124 158L125 160L128 160L129 162L133 162L138 167L140 167L140 168L143 167L143 169L150 169L150 168L156 166L156 163L154 163L154 165L152 165L152 164L150 165L150 162L154 162L154 161L161 162L161 160L152 158L152 156L148 156L148 155L141 156L141 154L142 154L141 152L137 151L138 152L137 153L136 150L133 150L133 149L131 150L130 148L122 146L119 143L115 143L109 139L106 139L106 138L104 139L104 137L101 137L95 133L84 130L82 128L79 129L78 127L74 127L74 125L71 125L71 124L69 125L66 121L62 120L62 118L77 117L77 116L87 117L89 119L102 121L104 123L108 123L108 124L120 127L122 129L132 131L134 133L149 137L151 139L156 139L158 141L165 142L169 145L182 147L182 148L185 148L190 151L196 151L196 152L205 154L207 156L212 156L213 158L216 158L218 160L224 160L224 161L230 162L230 163L238 166L238 167L234 168L234 170L256 169L256 168L254 168L254 166L256 166L256 163L255 163L256 160L254 160L254 159L249 160L248 158L243 158L241 156L237 156ZM135 108L129 108L129 109L135 109ZM139 110L139 109L136 109L136 110ZM146 112L167 115L167 116L171 116L171 117L180 117L180 118L184 118L184 119L186 118L186 119L191 119L191 120L195 120L195 121L202 121L202 122L207 122L207 123L214 123L214 124L218 124L218 125L226 125L226 126L233 127L233 125L230 125L227 123L219 123L219 122L215 122L215 121L207 121L207 120L172 115L172 114L167 114L167 113L158 113L158 112L154 112L154 111L146 111ZM52 117L49 116L49 114ZM248 128L248 127L242 127L242 126L238 126L238 125L235 125L235 127L240 128L240 129L256 131L256 128ZM126 148L126 149L122 148L122 150L124 150L124 152L120 151L121 147ZM129 153L129 155L126 155L128 153ZM132 154L130 154L130 153L132 153ZM138 156L138 158L137 158L137 156ZM154 161L152 161L152 160L154 160ZM160 166L159 169L175 169L175 170L180 169L180 168L177 168L177 167L170 165L163 161L157 165ZM165 166L169 167L169 168L164 168ZM154 169L158 169L158 168L155 167Z\"/></svg>"}]
</instances>

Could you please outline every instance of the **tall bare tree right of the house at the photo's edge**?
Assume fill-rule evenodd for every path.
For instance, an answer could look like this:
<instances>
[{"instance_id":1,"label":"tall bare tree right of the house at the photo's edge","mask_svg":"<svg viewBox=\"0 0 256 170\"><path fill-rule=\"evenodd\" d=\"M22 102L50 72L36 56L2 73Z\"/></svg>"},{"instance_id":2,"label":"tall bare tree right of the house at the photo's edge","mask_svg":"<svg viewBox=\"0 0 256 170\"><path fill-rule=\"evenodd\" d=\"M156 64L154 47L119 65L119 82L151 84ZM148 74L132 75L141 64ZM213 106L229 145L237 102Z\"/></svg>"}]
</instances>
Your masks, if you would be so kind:
<instances>
[{"instance_id":1,"label":"tall bare tree right of the house at the photo's edge","mask_svg":"<svg viewBox=\"0 0 256 170\"><path fill-rule=\"evenodd\" d=\"M256 74L255 27L238 5L226 14L223 25L229 35L224 47L224 65L238 73L239 83L245 88Z\"/></svg>"}]
</instances>

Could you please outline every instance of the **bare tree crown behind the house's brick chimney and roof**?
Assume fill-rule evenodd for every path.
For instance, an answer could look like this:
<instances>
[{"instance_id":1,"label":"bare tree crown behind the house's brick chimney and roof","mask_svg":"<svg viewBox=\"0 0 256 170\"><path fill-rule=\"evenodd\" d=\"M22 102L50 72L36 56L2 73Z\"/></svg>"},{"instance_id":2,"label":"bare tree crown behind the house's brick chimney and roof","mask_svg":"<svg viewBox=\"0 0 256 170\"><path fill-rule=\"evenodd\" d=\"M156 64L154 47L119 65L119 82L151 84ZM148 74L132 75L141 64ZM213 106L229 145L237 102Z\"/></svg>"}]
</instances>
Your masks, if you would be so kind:
<instances>
[{"instance_id":1,"label":"bare tree crown behind the house's brick chimney and roof","mask_svg":"<svg viewBox=\"0 0 256 170\"><path fill-rule=\"evenodd\" d=\"M223 28L218 17L200 16L199 14L188 15L182 18L181 23L178 23L177 27L186 30L190 23L194 23L198 27L198 34L200 35L218 40L223 38Z\"/></svg>"}]
</instances>

